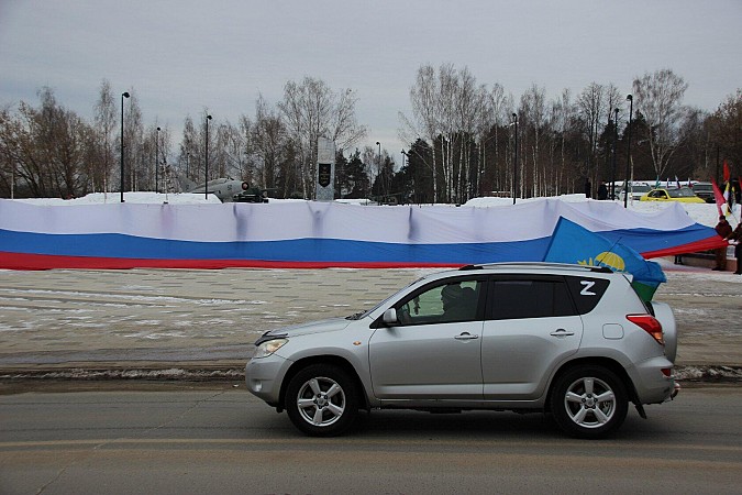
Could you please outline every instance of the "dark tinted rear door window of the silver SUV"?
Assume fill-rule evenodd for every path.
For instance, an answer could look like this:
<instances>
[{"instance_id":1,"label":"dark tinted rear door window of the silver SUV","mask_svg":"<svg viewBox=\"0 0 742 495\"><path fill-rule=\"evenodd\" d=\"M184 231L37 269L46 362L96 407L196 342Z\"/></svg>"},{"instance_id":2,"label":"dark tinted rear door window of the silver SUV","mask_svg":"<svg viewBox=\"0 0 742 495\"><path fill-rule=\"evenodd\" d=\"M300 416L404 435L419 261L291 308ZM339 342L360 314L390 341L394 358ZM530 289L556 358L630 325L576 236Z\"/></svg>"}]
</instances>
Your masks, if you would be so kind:
<instances>
[{"instance_id":1,"label":"dark tinted rear door window of the silver SUV","mask_svg":"<svg viewBox=\"0 0 742 495\"><path fill-rule=\"evenodd\" d=\"M489 299L494 320L577 315L563 278L495 279Z\"/></svg>"}]
</instances>

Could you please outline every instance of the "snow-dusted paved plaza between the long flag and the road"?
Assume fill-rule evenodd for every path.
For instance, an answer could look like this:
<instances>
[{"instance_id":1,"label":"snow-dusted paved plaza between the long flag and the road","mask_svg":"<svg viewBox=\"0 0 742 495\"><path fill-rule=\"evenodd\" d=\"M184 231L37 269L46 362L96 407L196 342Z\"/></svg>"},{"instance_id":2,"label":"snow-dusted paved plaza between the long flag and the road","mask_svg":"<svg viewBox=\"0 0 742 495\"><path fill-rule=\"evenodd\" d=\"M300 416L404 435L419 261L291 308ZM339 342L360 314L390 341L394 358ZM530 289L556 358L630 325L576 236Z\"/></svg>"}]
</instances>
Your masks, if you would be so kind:
<instances>
[{"instance_id":1,"label":"snow-dusted paved plaza between the long flag and the road","mask_svg":"<svg viewBox=\"0 0 742 495\"><path fill-rule=\"evenodd\" d=\"M655 299L678 321L676 364L742 370L742 277L664 267L668 282ZM240 373L266 330L357 312L430 272L0 272L0 378L70 370Z\"/></svg>"}]
</instances>

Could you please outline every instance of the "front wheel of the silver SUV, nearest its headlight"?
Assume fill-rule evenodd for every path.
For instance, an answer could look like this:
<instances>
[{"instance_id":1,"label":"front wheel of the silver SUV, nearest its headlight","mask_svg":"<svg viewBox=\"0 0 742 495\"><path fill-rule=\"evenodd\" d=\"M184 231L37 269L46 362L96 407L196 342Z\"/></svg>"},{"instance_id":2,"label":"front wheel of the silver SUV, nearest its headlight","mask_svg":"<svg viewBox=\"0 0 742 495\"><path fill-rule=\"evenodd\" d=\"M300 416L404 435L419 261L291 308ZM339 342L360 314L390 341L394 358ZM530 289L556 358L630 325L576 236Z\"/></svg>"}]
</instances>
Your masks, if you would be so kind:
<instances>
[{"instance_id":1,"label":"front wheel of the silver SUV, nearest its headlight","mask_svg":"<svg viewBox=\"0 0 742 495\"><path fill-rule=\"evenodd\" d=\"M342 367L311 364L291 377L286 411L294 426L308 436L342 435L358 416L355 381Z\"/></svg>"}]
</instances>

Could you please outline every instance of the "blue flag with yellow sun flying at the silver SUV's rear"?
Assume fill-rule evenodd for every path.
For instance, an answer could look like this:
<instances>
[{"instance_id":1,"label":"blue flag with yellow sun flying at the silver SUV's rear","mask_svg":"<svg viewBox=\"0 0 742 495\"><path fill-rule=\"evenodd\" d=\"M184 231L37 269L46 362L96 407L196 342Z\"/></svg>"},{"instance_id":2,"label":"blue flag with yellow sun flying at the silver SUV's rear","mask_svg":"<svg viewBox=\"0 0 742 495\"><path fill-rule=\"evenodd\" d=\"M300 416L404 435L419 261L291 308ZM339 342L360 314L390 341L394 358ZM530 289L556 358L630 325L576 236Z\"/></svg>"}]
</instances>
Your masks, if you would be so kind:
<instances>
[{"instance_id":1,"label":"blue flag with yellow sun flying at the silver SUV's rear","mask_svg":"<svg viewBox=\"0 0 742 495\"><path fill-rule=\"evenodd\" d=\"M606 266L633 275L632 285L644 300L652 300L660 284L667 282L658 263L646 261L635 250L560 217L546 249L545 262Z\"/></svg>"}]
</instances>

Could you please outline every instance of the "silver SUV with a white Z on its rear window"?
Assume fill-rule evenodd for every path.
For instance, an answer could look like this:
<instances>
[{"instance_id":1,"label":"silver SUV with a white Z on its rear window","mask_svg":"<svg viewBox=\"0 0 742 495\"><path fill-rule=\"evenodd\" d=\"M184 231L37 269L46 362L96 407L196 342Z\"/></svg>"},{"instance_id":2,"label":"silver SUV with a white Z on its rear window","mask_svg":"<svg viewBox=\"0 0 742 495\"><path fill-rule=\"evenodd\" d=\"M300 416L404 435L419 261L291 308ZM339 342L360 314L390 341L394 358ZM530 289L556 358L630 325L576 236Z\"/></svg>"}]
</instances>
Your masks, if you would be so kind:
<instances>
[{"instance_id":1,"label":"silver SUV with a white Z on its rear window","mask_svg":"<svg viewBox=\"0 0 742 495\"><path fill-rule=\"evenodd\" d=\"M551 263L465 266L425 276L374 308L266 332L248 389L310 436L359 409L549 411L600 438L677 394L675 318L631 277Z\"/></svg>"}]
</instances>

